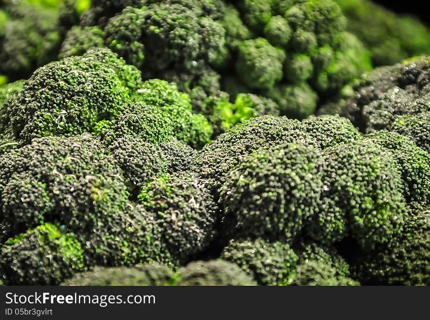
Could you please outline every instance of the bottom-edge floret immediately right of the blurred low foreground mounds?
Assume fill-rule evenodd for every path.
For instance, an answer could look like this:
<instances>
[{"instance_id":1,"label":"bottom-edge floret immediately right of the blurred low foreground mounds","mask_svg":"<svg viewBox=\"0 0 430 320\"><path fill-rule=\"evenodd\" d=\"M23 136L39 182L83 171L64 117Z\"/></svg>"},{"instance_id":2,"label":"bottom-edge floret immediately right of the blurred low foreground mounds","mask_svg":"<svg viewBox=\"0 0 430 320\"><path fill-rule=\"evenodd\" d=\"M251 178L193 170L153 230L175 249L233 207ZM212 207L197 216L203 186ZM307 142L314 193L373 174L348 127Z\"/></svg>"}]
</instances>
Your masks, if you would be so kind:
<instances>
[{"instance_id":1,"label":"bottom-edge floret immediately right of the blurred low foreground mounds","mask_svg":"<svg viewBox=\"0 0 430 320\"><path fill-rule=\"evenodd\" d=\"M289 285L294 278L297 256L288 244L231 240L221 258L236 263L259 285Z\"/></svg>"}]
</instances>

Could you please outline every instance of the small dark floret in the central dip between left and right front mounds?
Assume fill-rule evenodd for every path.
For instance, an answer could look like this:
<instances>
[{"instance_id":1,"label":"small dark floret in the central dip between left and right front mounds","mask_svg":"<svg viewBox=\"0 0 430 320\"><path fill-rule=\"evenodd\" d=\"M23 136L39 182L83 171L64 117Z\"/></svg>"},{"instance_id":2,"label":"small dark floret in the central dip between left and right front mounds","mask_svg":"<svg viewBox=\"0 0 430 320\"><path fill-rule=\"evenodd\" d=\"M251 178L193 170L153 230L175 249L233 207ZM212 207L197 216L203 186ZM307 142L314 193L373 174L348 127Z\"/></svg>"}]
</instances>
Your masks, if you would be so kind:
<instances>
[{"instance_id":1,"label":"small dark floret in the central dip between left and right front mounds","mask_svg":"<svg viewBox=\"0 0 430 320\"><path fill-rule=\"evenodd\" d=\"M168 173L173 174L186 171L198 172L198 168L195 164L197 150L176 139L162 142L159 144L159 147L167 160Z\"/></svg>"}]
</instances>

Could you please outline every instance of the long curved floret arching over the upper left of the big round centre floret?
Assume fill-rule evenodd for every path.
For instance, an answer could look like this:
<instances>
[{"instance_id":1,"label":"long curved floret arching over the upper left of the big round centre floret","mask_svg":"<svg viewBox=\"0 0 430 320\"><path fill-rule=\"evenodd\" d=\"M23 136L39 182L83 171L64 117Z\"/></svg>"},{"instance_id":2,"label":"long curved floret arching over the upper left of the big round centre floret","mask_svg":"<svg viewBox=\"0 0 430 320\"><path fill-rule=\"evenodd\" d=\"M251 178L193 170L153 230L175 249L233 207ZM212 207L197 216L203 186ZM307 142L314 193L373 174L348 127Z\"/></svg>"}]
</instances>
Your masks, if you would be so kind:
<instances>
[{"instance_id":1,"label":"long curved floret arching over the upper left of the big round centre floret","mask_svg":"<svg viewBox=\"0 0 430 320\"><path fill-rule=\"evenodd\" d=\"M226 175L244 156L291 139L290 132L300 128L300 122L272 115L250 119L237 124L206 145L198 154L200 174L209 179L212 192L226 181Z\"/></svg>"}]
</instances>

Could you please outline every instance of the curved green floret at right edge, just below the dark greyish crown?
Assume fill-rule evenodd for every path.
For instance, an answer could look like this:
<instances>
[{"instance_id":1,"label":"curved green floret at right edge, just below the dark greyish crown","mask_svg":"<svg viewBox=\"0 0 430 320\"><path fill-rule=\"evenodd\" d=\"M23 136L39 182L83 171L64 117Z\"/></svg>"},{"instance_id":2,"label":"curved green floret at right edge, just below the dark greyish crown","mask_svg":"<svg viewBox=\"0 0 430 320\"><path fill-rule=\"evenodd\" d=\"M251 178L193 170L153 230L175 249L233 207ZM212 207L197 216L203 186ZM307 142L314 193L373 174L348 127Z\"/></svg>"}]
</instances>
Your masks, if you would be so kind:
<instances>
[{"instance_id":1,"label":"curved green floret at right edge, just below the dark greyish crown","mask_svg":"<svg viewBox=\"0 0 430 320\"><path fill-rule=\"evenodd\" d=\"M389 149L402 173L405 198L412 206L430 204L430 154L408 137L396 132L378 131L366 139Z\"/></svg>"}]
</instances>

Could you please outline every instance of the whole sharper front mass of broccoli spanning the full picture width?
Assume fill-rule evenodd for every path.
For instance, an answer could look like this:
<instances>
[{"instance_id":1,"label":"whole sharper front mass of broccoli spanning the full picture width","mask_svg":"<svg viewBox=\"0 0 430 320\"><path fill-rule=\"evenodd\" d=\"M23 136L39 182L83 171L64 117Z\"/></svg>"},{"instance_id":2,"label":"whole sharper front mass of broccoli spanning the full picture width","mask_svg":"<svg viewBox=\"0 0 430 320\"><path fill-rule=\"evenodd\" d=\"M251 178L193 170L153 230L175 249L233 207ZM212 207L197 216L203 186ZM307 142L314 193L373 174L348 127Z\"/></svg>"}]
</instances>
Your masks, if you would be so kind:
<instances>
[{"instance_id":1,"label":"whole sharper front mass of broccoli spanning the full picture width","mask_svg":"<svg viewBox=\"0 0 430 320\"><path fill-rule=\"evenodd\" d=\"M430 284L429 65L366 75L349 119L213 141L189 94L108 48L1 86L2 282Z\"/></svg>"}]
</instances>

